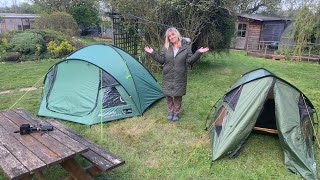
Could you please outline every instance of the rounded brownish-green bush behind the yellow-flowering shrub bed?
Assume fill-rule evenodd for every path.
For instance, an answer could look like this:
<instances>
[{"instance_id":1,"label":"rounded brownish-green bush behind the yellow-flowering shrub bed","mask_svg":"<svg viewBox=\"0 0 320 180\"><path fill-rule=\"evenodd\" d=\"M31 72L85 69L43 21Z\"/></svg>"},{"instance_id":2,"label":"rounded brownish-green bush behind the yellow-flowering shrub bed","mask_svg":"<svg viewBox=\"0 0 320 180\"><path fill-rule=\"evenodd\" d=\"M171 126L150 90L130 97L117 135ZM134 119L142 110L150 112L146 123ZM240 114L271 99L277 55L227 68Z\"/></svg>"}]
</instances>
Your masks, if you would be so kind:
<instances>
[{"instance_id":1,"label":"rounded brownish-green bush behind the yellow-flowering shrub bed","mask_svg":"<svg viewBox=\"0 0 320 180\"><path fill-rule=\"evenodd\" d=\"M41 17L36 18L35 26L37 29L59 31L70 37L79 34L78 24L70 14L65 12L42 14Z\"/></svg>"}]
</instances>

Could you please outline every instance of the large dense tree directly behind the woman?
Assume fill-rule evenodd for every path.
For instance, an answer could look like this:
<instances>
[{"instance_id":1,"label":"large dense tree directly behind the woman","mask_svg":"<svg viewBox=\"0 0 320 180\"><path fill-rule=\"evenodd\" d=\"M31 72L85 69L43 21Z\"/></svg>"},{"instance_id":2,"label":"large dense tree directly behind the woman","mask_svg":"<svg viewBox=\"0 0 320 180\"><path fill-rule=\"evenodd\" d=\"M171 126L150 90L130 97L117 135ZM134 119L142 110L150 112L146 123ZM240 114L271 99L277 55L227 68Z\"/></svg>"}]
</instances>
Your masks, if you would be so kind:
<instances>
[{"instance_id":1,"label":"large dense tree directly behind the woman","mask_svg":"<svg viewBox=\"0 0 320 180\"><path fill-rule=\"evenodd\" d=\"M116 0L111 4L125 18L128 29L138 31L148 45L158 50L163 44L165 30L170 26L176 27L195 45L211 49L219 49L221 45L228 46L230 38L224 37L230 37L230 33L226 32L234 29L222 31L226 30L224 28L234 27L234 22L219 0ZM220 18L222 14L224 19ZM226 24L228 25L223 28ZM212 32L219 32L216 34L222 38L209 39ZM201 41L198 40L199 37Z\"/></svg>"}]
</instances>

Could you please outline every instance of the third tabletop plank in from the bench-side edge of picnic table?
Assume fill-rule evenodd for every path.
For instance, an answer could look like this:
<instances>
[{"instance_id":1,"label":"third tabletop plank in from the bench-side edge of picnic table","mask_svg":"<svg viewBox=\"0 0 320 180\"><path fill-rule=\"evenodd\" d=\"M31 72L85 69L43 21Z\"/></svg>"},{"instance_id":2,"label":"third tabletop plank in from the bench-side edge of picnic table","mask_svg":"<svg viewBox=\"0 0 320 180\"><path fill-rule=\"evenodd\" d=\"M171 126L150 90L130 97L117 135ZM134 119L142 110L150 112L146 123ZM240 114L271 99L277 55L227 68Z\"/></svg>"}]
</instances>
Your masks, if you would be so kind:
<instances>
[{"instance_id":1,"label":"third tabletop plank in from the bench-side edge of picnic table","mask_svg":"<svg viewBox=\"0 0 320 180\"><path fill-rule=\"evenodd\" d=\"M0 124L8 132L14 132L19 130L19 126L10 121L7 117L3 116L0 112ZM49 148L43 146L39 141L34 139L30 135L20 135L19 133L12 134L18 141L21 142L26 149L29 149L33 154L39 157L44 163L51 164L59 160L59 156L51 151Z\"/></svg>"}]
</instances>

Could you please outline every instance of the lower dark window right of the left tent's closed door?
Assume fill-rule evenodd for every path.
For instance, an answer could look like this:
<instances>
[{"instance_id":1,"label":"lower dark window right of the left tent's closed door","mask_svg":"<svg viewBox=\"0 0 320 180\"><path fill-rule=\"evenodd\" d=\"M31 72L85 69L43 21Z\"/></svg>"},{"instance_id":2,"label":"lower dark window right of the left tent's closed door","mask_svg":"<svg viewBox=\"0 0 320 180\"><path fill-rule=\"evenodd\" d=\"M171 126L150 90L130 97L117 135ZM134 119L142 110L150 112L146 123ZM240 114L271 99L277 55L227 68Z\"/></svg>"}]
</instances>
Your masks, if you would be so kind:
<instances>
[{"instance_id":1,"label":"lower dark window right of the left tent's closed door","mask_svg":"<svg viewBox=\"0 0 320 180\"><path fill-rule=\"evenodd\" d=\"M103 93L102 106L103 108L111 108L115 106L126 105L120 93L115 87L106 87Z\"/></svg>"}]
</instances>

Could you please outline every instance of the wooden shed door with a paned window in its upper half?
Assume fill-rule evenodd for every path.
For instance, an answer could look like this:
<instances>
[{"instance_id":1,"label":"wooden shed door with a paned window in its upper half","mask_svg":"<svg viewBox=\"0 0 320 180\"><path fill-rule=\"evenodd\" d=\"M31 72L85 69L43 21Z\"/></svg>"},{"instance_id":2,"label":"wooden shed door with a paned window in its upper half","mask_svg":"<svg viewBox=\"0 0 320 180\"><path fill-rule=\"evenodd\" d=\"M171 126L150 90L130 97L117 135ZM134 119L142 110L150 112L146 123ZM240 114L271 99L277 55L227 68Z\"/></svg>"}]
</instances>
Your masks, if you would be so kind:
<instances>
[{"instance_id":1,"label":"wooden shed door with a paned window in its upper half","mask_svg":"<svg viewBox=\"0 0 320 180\"><path fill-rule=\"evenodd\" d=\"M239 22L236 24L235 49L246 49L249 24Z\"/></svg>"}]
</instances>

